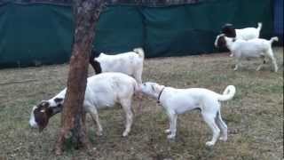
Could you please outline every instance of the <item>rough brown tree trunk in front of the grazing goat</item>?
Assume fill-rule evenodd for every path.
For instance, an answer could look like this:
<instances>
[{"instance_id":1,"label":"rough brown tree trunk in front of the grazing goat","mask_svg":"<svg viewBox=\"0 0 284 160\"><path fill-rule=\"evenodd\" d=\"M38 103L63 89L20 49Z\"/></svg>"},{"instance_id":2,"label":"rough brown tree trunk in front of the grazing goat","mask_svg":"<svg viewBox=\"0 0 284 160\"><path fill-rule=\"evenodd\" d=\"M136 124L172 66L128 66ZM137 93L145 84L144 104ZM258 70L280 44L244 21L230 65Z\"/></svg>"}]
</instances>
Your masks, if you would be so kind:
<instances>
[{"instance_id":1,"label":"rough brown tree trunk in front of the grazing goat","mask_svg":"<svg viewBox=\"0 0 284 160\"><path fill-rule=\"evenodd\" d=\"M62 153L62 147L72 135L76 148L89 146L86 136L83 100L87 84L89 57L94 30L102 9L103 0L74 0L75 35L67 79L67 93L61 115L61 129L55 152Z\"/></svg>"}]
</instances>

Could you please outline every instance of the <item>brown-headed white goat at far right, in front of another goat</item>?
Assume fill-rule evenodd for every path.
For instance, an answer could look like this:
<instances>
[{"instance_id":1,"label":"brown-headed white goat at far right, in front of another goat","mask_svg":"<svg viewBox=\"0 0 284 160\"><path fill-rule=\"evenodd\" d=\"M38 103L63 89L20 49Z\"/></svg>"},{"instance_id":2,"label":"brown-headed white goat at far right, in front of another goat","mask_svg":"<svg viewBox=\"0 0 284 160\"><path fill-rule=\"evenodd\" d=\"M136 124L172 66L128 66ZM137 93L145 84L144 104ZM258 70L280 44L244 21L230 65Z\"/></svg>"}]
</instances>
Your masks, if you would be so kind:
<instances>
[{"instance_id":1,"label":"brown-headed white goat at far right, in front of another goat","mask_svg":"<svg viewBox=\"0 0 284 160\"><path fill-rule=\"evenodd\" d=\"M237 63L234 70L237 70L239 68L242 59L261 58L263 60L263 63L265 63L265 57L268 57L270 60L272 60L274 71L277 72L277 62L272 52L272 43L274 41L278 41L278 37L272 37L270 40L255 38L245 41L227 37L224 34L221 34L217 36L215 46L226 46L230 50L230 52L232 52L233 57L236 57ZM256 68L256 70L260 70L263 66L263 63L260 64L258 68Z\"/></svg>"}]
</instances>

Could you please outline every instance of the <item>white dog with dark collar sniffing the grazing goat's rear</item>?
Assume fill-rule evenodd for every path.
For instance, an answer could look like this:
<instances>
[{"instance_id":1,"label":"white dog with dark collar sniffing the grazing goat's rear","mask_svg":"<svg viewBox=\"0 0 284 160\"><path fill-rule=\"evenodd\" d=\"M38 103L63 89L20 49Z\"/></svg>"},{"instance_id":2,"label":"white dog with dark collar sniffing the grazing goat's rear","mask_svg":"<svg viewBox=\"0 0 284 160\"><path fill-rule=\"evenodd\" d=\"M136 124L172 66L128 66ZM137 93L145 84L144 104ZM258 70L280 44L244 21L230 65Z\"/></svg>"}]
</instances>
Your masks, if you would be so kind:
<instances>
[{"instance_id":1,"label":"white dog with dark collar sniffing the grazing goat's rear","mask_svg":"<svg viewBox=\"0 0 284 160\"><path fill-rule=\"evenodd\" d=\"M223 94L212 92L203 88L175 89L156 83L141 85L141 92L158 100L165 108L170 120L170 133L168 139L173 139L177 132L177 115L185 111L200 108L204 121L213 132L212 140L206 142L207 146L213 146L221 132L219 140L227 140L227 125L222 120L220 102L231 100L235 94L235 87L228 85Z\"/></svg>"}]
</instances>

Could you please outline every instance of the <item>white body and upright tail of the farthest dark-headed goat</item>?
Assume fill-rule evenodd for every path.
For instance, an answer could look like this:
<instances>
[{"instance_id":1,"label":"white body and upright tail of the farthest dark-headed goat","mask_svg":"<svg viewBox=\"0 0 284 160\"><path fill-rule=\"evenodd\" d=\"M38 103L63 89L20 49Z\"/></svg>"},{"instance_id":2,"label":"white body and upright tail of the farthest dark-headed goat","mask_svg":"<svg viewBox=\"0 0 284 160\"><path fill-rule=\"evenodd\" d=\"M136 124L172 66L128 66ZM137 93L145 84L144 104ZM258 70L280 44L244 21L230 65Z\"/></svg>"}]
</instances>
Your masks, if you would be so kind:
<instances>
[{"instance_id":1,"label":"white body and upright tail of the farthest dark-headed goat","mask_svg":"<svg viewBox=\"0 0 284 160\"><path fill-rule=\"evenodd\" d=\"M235 29L236 39L250 40L259 37L260 30L262 28L262 23L257 24L257 28L240 28Z\"/></svg>"}]
</instances>

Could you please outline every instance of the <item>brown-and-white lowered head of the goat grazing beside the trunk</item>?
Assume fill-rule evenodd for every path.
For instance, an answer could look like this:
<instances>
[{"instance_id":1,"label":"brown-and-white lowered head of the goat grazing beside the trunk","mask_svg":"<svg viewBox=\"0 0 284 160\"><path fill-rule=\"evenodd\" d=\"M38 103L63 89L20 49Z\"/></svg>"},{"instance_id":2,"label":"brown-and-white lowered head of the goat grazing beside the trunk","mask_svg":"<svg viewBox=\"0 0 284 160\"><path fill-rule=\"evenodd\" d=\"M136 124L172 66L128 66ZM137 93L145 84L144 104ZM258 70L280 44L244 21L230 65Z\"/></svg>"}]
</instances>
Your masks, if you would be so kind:
<instances>
[{"instance_id":1,"label":"brown-and-white lowered head of the goat grazing beside the trunk","mask_svg":"<svg viewBox=\"0 0 284 160\"><path fill-rule=\"evenodd\" d=\"M36 105L31 113L29 124L32 127L38 127L39 132L47 126L51 116L62 110L63 99L56 98L54 100L43 100Z\"/></svg>"}]
</instances>

